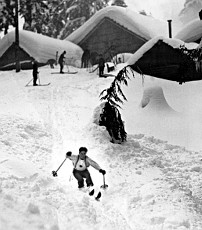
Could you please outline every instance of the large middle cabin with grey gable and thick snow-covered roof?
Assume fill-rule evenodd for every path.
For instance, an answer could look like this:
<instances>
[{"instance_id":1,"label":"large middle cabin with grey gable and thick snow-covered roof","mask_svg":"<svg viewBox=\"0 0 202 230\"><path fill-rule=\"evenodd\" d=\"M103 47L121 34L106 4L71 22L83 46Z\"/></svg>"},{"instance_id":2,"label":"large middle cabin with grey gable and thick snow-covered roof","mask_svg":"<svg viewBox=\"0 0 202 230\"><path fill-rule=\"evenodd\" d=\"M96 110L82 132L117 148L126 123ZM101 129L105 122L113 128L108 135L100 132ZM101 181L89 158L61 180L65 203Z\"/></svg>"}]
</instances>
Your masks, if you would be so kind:
<instances>
[{"instance_id":1,"label":"large middle cabin with grey gable and thick snow-covered roof","mask_svg":"<svg viewBox=\"0 0 202 230\"><path fill-rule=\"evenodd\" d=\"M66 40L87 48L95 63L99 54L110 61L116 54L134 53L151 38L168 34L167 22L129 8L109 6L95 13Z\"/></svg>"}]
</instances>

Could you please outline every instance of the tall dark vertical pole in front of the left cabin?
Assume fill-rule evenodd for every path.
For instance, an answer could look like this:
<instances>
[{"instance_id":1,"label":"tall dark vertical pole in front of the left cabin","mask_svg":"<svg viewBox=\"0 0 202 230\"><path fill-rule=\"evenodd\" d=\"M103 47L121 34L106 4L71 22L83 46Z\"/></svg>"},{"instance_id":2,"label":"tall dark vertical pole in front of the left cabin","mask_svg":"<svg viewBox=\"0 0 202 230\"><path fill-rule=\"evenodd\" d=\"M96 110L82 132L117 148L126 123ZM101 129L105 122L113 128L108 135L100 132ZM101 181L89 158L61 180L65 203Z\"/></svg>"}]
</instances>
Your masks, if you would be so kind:
<instances>
[{"instance_id":1,"label":"tall dark vertical pole in front of the left cabin","mask_svg":"<svg viewBox=\"0 0 202 230\"><path fill-rule=\"evenodd\" d=\"M19 61L19 21L18 21L18 2L15 0L15 67L16 72L20 72L20 61Z\"/></svg>"}]
</instances>

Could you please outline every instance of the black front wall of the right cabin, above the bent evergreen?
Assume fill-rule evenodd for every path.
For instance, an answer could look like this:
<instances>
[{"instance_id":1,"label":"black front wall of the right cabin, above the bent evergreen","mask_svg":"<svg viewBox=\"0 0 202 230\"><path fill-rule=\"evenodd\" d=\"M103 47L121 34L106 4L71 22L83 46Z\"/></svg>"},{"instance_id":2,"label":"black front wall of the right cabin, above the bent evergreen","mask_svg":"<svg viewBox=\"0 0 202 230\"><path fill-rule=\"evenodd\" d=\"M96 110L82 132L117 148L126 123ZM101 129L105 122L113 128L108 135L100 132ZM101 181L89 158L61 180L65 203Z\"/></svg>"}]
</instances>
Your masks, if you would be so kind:
<instances>
[{"instance_id":1,"label":"black front wall of the right cabin, above the bent evergreen","mask_svg":"<svg viewBox=\"0 0 202 230\"><path fill-rule=\"evenodd\" d=\"M132 68L145 75L180 83L201 79L193 61L179 49L174 49L161 40L144 53Z\"/></svg>"}]
</instances>

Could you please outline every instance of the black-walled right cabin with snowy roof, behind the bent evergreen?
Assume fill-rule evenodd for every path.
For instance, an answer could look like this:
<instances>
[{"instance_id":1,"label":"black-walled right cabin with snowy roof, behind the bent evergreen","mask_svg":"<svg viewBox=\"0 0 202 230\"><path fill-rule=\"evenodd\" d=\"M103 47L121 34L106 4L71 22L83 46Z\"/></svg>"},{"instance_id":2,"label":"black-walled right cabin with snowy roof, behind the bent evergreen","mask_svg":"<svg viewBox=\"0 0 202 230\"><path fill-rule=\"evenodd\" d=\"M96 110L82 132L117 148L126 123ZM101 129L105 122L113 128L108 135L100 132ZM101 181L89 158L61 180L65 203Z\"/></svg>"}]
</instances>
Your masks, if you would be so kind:
<instances>
[{"instance_id":1,"label":"black-walled right cabin with snowy roof, behind the bent evergreen","mask_svg":"<svg viewBox=\"0 0 202 230\"><path fill-rule=\"evenodd\" d=\"M202 72L197 71L196 63L182 52L181 46L194 50L198 44L155 37L133 54L127 64L141 74L179 83L201 80Z\"/></svg>"}]
</instances>

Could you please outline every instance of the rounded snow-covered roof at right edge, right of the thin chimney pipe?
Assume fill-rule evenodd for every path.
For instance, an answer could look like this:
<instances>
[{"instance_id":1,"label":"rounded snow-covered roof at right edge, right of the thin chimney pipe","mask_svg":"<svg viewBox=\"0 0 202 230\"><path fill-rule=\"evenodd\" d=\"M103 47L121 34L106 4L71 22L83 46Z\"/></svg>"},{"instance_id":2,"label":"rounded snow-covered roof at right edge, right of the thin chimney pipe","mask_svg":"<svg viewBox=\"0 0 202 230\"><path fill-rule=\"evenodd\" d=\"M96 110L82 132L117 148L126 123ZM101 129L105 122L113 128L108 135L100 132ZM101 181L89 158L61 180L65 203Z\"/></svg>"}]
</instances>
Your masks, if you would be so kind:
<instances>
[{"instance_id":1,"label":"rounded snow-covered roof at right edge, right of the thin chimney pipe","mask_svg":"<svg viewBox=\"0 0 202 230\"><path fill-rule=\"evenodd\" d=\"M195 19L186 24L176 35L175 38L185 42L194 42L202 37L202 20Z\"/></svg>"}]
</instances>

